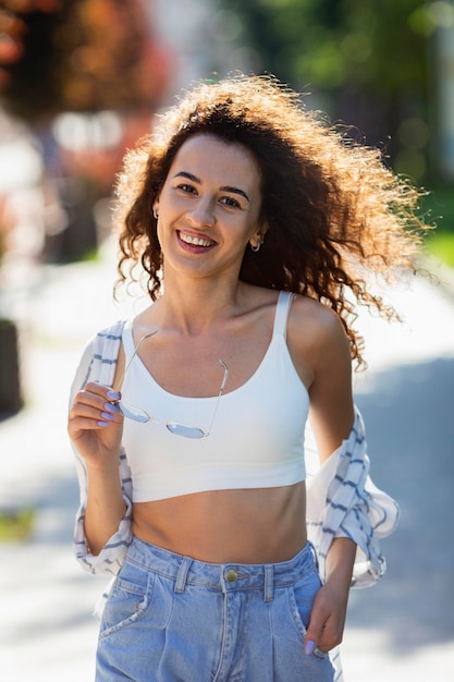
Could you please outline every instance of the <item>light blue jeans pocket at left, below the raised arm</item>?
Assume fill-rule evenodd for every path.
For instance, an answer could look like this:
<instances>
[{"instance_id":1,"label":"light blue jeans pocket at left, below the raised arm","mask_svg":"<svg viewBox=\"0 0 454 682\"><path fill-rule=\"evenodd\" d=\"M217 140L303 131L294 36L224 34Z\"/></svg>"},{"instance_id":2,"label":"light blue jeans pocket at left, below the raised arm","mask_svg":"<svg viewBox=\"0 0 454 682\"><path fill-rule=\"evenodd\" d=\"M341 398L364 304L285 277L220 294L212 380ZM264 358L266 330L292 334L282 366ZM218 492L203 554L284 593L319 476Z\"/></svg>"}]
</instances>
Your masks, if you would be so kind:
<instances>
[{"instance_id":1,"label":"light blue jeans pocket at left, below the raised arm","mask_svg":"<svg viewBox=\"0 0 454 682\"><path fill-rule=\"evenodd\" d=\"M136 622L148 609L152 594L152 574L134 564L121 569L106 604L99 636L107 637Z\"/></svg>"}]
</instances>

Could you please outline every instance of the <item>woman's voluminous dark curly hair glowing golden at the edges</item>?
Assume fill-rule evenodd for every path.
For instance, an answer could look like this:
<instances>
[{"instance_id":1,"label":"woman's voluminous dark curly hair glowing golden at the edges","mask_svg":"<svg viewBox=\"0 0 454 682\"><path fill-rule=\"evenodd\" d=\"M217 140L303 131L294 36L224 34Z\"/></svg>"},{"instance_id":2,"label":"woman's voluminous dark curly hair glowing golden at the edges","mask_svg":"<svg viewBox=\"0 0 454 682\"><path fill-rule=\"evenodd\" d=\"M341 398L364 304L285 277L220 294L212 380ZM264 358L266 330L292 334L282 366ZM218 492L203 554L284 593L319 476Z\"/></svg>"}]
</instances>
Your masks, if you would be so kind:
<instances>
[{"instance_id":1,"label":"woman's voluminous dark curly hair glowing golden at the edges","mask_svg":"<svg viewBox=\"0 0 454 682\"><path fill-rule=\"evenodd\" d=\"M297 93L272 77L198 84L125 156L115 205L119 283L135 281L142 265L151 300L159 296L162 253L151 207L181 146L203 133L244 145L261 171L260 217L269 229L260 252L247 247L240 279L330 306L360 365L364 342L352 327L356 304L398 318L370 291L367 272L390 278L415 269L421 193L395 175L378 149L307 111Z\"/></svg>"}]
</instances>

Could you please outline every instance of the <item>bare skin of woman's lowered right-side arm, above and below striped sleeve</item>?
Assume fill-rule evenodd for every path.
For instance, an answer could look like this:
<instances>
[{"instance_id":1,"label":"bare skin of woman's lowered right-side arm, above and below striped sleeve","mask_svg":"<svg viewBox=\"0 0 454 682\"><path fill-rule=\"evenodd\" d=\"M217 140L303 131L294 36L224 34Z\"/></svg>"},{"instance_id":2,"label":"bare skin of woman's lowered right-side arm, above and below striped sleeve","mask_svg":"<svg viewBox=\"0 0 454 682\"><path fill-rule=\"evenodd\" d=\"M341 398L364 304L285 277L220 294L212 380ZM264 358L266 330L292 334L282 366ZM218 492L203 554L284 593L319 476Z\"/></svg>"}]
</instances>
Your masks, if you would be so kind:
<instances>
[{"instance_id":1,"label":"bare skin of woman's lowered right-side arm, above and below striped sleeve","mask_svg":"<svg viewBox=\"0 0 454 682\"><path fill-rule=\"evenodd\" d=\"M304 363L306 380L309 377L309 419L323 463L348 437L354 423L351 355L338 316L312 302L306 307L309 315L306 313L300 327L305 330L304 339L298 344L295 329L293 352L302 358L302 366ZM316 647L329 650L342 640L355 553L356 545L349 538L332 541L326 582L317 593L306 634L307 653Z\"/></svg>"}]
</instances>

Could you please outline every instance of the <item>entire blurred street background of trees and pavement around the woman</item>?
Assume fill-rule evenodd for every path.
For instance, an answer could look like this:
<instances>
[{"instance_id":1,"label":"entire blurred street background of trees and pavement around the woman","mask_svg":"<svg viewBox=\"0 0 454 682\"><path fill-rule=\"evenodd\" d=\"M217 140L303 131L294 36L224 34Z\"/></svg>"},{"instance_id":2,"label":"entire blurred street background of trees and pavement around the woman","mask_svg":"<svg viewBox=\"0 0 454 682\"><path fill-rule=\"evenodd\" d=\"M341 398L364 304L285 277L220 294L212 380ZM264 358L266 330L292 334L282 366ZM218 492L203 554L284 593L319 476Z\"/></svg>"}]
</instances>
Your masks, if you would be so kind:
<instances>
[{"instance_id":1,"label":"entire blurred street background of trees and pavement around the woman","mask_svg":"<svg viewBox=\"0 0 454 682\"><path fill-rule=\"evenodd\" d=\"M424 266L440 287L391 292L404 331L360 321L371 378L358 381L358 402L380 452L377 483L403 500L403 531L385 546L388 587L352 600L345 668L351 682L454 679L454 538L443 525L454 480L454 2L2 0L0 680L91 679L101 587L70 556L77 491L64 413L83 344L133 305L112 301L112 183L181 88L234 71L307 93L309 109L428 191L420 212L437 230ZM403 406L396 438L390 417ZM427 547L437 562L420 556Z\"/></svg>"}]
</instances>

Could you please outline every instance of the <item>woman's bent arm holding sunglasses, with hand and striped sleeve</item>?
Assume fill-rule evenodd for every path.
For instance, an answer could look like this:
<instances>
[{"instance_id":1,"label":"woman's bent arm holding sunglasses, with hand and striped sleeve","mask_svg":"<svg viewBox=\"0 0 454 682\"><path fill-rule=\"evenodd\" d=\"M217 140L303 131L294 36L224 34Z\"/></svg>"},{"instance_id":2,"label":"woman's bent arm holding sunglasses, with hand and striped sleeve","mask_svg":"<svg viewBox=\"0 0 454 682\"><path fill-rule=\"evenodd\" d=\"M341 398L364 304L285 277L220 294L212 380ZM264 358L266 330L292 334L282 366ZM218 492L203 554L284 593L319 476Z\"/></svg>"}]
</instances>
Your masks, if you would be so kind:
<instances>
[{"instance_id":1,"label":"woman's bent arm holding sunglasses, with hand and striped sleeve","mask_svg":"<svg viewBox=\"0 0 454 682\"><path fill-rule=\"evenodd\" d=\"M118 413L112 413L113 419L101 416L110 400L120 339L121 326L115 325L90 342L70 398L69 434L81 490L74 551L91 573L116 573L132 536L131 472L120 446L122 419ZM99 421L110 426L99 426Z\"/></svg>"}]
</instances>

